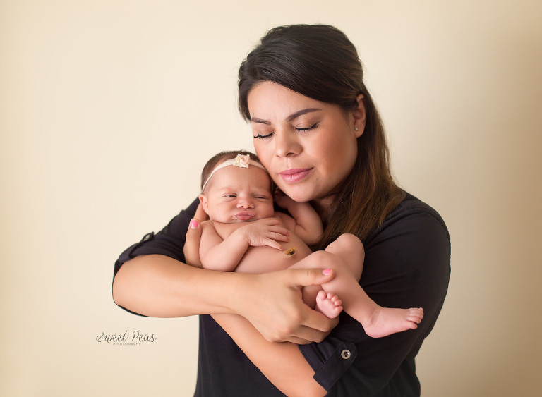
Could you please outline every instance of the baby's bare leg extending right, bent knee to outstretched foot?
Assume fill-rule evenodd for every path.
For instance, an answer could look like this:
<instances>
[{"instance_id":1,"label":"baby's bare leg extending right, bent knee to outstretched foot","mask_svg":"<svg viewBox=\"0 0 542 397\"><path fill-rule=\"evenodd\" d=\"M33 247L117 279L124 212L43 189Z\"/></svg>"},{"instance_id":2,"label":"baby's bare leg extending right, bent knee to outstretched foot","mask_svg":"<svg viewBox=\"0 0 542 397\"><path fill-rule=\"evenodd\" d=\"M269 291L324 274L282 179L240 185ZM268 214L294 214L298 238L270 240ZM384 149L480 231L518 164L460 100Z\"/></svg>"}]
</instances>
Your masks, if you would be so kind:
<instances>
[{"instance_id":1,"label":"baby's bare leg extending right, bent knee to outstretched foot","mask_svg":"<svg viewBox=\"0 0 542 397\"><path fill-rule=\"evenodd\" d=\"M368 336L380 338L406 329L415 329L421 322L421 308L380 307L359 286L365 255L363 245L356 236L339 236L325 251L314 252L312 255L318 255L313 259L320 262L322 267L335 270L335 278L323 284L324 291L341 298L344 310L363 325ZM300 267L303 267L306 262L301 262Z\"/></svg>"}]
</instances>

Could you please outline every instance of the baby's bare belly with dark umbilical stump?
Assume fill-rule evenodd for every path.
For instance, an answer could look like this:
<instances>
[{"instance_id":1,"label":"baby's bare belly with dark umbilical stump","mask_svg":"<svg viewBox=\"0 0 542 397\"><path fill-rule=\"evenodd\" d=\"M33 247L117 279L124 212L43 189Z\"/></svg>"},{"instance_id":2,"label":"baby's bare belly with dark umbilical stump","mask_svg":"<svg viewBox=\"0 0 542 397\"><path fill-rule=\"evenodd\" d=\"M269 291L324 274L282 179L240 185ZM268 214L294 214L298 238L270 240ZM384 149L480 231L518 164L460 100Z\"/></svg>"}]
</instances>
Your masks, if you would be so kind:
<instances>
[{"instance_id":1,"label":"baby's bare belly with dark umbilical stump","mask_svg":"<svg viewBox=\"0 0 542 397\"><path fill-rule=\"evenodd\" d=\"M288 243L281 243L283 250L267 247L249 247L235 271L240 273L265 273L267 271L284 270L311 254L303 240L290 234ZM295 247L293 255L286 255L285 250Z\"/></svg>"}]
</instances>

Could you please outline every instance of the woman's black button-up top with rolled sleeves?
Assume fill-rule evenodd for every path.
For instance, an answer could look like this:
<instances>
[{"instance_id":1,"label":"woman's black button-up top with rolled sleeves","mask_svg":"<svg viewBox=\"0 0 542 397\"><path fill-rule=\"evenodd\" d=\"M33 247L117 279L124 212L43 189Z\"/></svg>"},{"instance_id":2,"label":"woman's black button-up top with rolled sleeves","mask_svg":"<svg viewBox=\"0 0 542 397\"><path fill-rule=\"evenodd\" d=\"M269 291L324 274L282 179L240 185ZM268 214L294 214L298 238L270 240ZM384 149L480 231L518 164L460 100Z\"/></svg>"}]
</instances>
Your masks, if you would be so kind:
<instances>
[{"instance_id":1,"label":"woman's black button-up top with rolled sleeves","mask_svg":"<svg viewBox=\"0 0 542 397\"><path fill-rule=\"evenodd\" d=\"M161 254L184 262L185 235L197 205L198 200L162 231L145 235L124 251L115 274L137 255ZM447 293L450 236L434 209L407 194L363 245L361 286L383 307L423 307L418 329L371 338L359 322L342 312L325 341L299 349L328 396L419 396L414 358L433 329ZM212 317L202 315L195 396L284 395Z\"/></svg>"}]
</instances>

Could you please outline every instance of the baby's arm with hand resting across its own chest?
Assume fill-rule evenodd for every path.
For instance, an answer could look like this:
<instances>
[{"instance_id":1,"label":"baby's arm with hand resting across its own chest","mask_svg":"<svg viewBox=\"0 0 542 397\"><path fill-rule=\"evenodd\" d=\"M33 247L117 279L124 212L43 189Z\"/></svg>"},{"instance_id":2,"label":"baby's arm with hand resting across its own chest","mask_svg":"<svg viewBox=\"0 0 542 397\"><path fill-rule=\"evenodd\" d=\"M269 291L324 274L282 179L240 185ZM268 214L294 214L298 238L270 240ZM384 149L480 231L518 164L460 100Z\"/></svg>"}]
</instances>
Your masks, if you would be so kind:
<instances>
[{"instance_id":1,"label":"baby's arm with hand resting across its own chest","mask_svg":"<svg viewBox=\"0 0 542 397\"><path fill-rule=\"evenodd\" d=\"M234 271L248 247L268 245L282 250L279 241L288 241L288 231L277 226L277 219L249 222L237 228L226 239L218 235L211 221L202 224L200 259L204 269Z\"/></svg>"}]
</instances>

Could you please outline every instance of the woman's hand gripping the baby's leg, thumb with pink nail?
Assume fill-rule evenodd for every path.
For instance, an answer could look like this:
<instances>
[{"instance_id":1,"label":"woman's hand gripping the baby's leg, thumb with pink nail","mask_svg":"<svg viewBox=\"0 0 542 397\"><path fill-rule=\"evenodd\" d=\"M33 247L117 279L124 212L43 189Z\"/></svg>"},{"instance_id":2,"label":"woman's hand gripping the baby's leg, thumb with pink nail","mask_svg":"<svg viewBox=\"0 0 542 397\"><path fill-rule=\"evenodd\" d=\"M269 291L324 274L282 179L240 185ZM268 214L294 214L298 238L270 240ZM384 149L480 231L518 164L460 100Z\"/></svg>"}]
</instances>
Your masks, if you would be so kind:
<instances>
[{"instance_id":1,"label":"woman's hand gripping the baby's leg, thumb with pink nail","mask_svg":"<svg viewBox=\"0 0 542 397\"><path fill-rule=\"evenodd\" d=\"M248 319L270 342L306 344L320 342L338 319L308 307L301 299L303 286L320 285L333 279L330 269L287 269L263 274L245 274L232 308Z\"/></svg>"}]
</instances>

